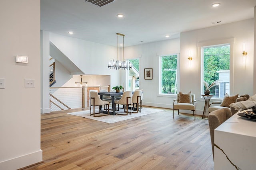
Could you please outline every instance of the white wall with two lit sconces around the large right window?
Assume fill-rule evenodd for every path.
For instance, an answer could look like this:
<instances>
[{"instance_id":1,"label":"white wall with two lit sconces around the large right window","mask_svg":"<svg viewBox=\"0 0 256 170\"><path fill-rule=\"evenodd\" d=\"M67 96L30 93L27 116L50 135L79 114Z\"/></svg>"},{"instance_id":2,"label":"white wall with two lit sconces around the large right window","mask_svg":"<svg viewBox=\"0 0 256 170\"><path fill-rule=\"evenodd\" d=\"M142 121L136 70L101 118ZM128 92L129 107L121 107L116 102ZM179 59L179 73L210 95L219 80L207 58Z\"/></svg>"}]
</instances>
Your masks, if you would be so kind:
<instances>
[{"instance_id":1,"label":"white wall with two lit sconces around the large right window","mask_svg":"<svg viewBox=\"0 0 256 170\"><path fill-rule=\"evenodd\" d=\"M246 31L245 31L246 30ZM254 20L244 20L214 27L188 31L180 34L180 90L192 91L196 94L197 109L203 110L204 100L200 97L200 43L221 41L234 38L234 58L230 59L230 70L234 70L230 78L230 95L253 95L253 56L254 56ZM242 64L242 44L246 43L248 52L246 65ZM192 51L192 68L187 68L188 50ZM233 64L232 64L233 63ZM182 67L184 65L184 67ZM230 74L232 74L230 72ZM189 82L189 83L188 83Z\"/></svg>"}]
</instances>

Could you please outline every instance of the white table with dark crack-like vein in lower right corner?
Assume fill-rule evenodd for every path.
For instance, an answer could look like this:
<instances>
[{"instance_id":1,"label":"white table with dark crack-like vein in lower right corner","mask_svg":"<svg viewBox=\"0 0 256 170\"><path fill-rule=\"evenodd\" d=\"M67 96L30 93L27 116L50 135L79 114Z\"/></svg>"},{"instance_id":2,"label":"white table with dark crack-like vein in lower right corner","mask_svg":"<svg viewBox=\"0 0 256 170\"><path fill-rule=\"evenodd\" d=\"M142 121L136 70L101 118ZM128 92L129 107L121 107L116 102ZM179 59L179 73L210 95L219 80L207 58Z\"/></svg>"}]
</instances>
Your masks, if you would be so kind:
<instances>
[{"instance_id":1,"label":"white table with dark crack-like vein in lower right corner","mask_svg":"<svg viewBox=\"0 0 256 170\"><path fill-rule=\"evenodd\" d=\"M214 170L256 169L256 120L237 114L214 130Z\"/></svg>"}]
</instances>

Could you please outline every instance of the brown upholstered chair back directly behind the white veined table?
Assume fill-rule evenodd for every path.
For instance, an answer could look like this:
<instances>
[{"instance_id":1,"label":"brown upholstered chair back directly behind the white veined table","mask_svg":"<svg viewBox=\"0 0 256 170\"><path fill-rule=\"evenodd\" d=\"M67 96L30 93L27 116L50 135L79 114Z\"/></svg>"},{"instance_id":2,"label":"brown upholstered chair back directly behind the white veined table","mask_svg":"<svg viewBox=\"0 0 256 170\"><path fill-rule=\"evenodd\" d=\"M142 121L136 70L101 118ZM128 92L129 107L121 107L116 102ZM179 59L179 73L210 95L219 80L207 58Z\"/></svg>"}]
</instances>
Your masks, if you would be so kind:
<instances>
[{"instance_id":1,"label":"brown upholstered chair back directly behind the white veined table","mask_svg":"<svg viewBox=\"0 0 256 170\"><path fill-rule=\"evenodd\" d=\"M212 142L212 155L214 159L214 129L232 116L229 108L214 110L208 115L210 136Z\"/></svg>"}]
</instances>

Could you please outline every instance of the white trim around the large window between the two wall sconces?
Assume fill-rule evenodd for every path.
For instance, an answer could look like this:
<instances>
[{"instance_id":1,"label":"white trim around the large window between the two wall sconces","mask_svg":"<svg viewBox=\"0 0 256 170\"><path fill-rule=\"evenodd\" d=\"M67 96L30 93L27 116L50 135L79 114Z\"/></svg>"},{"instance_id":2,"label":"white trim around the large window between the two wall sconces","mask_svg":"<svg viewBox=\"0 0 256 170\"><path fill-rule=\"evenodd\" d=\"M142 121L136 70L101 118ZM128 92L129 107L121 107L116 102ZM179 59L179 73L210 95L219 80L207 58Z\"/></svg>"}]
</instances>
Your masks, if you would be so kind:
<instances>
[{"instance_id":1,"label":"white trim around the large window between the two wall sconces","mask_svg":"<svg viewBox=\"0 0 256 170\"><path fill-rule=\"evenodd\" d=\"M215 46L215 45L222 45L222 44L230 44L230 95L234 94L234 43L235 43L235 38L229 38L229 39L220 39L220 40L212 40L212 41L200 41L198 42L198 60L201 64L199 64L199 69L198 69L198 75L200 75L200 81L198 82L198 87L201 87L201 93L203 87L203 82L202 82L202 47L206 46ZM202 93L203 94L203 93ZM202 98L202 96L201 96ZM218 99L218 98L214 98ZM222 98L221 98L222 99Z\"/></svg>"}]
</instances>

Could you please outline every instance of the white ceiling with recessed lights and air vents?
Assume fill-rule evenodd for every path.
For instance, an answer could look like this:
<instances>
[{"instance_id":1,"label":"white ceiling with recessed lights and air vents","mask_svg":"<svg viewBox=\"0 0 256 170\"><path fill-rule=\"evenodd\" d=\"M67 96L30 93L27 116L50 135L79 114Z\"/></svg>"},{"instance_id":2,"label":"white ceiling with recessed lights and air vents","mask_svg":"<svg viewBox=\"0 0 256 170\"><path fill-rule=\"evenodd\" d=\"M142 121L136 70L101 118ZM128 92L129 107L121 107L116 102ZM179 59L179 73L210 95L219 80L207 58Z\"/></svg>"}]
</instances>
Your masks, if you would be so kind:
<instances>
[{"instance_id":1,"label":"white ceiling with recessed lights and air vents","mask_svg":"<svg viewBox=\"0 0 256 170\"><path fill-rule=\"evenodd\" d=\"M215 2L220 6L213 8ZM116 33L122 33L127 47L254 18L254 6L256 0L115 0L102 7L84 0L41 0L41 29L113 46ZM221 23L212 24L216 21Z\"/></svg>"}]
</instances>

